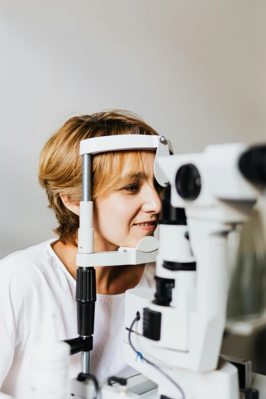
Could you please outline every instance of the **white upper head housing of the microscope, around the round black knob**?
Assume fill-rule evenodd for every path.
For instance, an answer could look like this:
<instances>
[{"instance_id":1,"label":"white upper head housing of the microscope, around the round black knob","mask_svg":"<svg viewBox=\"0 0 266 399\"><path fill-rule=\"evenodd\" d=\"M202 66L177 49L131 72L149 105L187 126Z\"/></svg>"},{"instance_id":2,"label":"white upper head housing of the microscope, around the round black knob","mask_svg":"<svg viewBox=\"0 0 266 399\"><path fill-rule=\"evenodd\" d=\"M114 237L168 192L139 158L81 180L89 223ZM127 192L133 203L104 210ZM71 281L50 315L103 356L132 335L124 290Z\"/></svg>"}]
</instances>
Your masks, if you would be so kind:
<instances>
[{"instance_id":1,"label":"white upper head housing of the microscope, around the round black knob","mask_svg":"<svg viewBox=\"0 0 266 399\"><path fill-rule=\"evenodd\" d=\"M202 153L159 158L158 165L173 188L172 206L185 207L187 216L243 222L243 217L249 216L250 202L254 203L261 193L238 168L238 160L246 149L243 143L219 144L207 146ZM176 173L185 164L193 164L200 174L201 191L194 201L183 200L175 189Z\"/></svg>"}]
</instances>

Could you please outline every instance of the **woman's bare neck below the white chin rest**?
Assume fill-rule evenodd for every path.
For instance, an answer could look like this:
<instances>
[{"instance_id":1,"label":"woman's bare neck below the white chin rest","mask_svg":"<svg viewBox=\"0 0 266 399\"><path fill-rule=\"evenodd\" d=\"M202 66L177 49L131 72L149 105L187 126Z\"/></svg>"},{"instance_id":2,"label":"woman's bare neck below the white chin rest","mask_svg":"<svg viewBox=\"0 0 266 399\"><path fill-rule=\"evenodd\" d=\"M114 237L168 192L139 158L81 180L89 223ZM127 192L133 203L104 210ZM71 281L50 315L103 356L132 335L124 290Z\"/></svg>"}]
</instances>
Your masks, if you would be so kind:
<instances>
[{"instance_id":1,"label":"woman's bare neck below the white chin rest","mask_svg":"<svg viewBox=\"0 0 266 399\"><path fill-rule=\"evenodd\" d=\"M76 279L76 254L77 247L56 241L51 244L52 249L64 264L71 276ZM95 252L107 249L95 248ZM110 250L110 249L109 249ZM113 249L114 251L117 250ZM144 271L144 264L123 266L98 266L96 273L96 292L103 295L122 294L129 288L134 288L140 281Z\"/></svg>"}]
</instances>

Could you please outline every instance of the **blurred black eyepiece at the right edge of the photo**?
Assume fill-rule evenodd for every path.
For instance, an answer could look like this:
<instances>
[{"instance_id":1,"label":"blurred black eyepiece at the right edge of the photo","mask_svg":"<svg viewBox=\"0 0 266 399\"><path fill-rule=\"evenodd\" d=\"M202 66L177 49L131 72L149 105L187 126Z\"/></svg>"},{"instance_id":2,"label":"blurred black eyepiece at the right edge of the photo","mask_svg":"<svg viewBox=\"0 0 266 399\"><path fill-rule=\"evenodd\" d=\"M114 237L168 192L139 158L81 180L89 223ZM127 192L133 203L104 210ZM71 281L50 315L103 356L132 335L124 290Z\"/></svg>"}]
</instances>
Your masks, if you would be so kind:
<instances>
[{"instance_id":1,"label":"blurred black eyepiece at the right edge of the photo","mask_svg":"<svg viewBox=\"0 0 266 399\"><path fill-rule=\"evenodd\" d=\"M266 145L258 145L245 151L238 162L241 173L251 183L266 185Z\"/></svg>"}]
</instances>

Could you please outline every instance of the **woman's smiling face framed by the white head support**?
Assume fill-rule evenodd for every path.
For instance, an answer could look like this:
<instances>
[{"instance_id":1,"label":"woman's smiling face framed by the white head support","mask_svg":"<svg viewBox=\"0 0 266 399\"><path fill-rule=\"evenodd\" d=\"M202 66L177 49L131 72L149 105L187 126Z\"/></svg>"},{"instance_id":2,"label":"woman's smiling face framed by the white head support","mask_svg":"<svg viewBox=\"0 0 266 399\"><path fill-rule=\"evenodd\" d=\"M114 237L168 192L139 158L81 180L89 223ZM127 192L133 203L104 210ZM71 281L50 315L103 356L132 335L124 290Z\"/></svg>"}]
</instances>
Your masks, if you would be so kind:
<instances>
[{"instance_id":1,"label":"woman's smiling face framed by the white head support","mask_svg":"<svg viewBox=\"0 0 266 399\"><path fill-rule=\"evenodd\" d=\"M161 200L153 174L155 154L143 152L140 172L130 176L125 162L121 187L94 200L95 251L136 248L139 241L153 235L161 212Z\"/></svg>"}]
</instances>

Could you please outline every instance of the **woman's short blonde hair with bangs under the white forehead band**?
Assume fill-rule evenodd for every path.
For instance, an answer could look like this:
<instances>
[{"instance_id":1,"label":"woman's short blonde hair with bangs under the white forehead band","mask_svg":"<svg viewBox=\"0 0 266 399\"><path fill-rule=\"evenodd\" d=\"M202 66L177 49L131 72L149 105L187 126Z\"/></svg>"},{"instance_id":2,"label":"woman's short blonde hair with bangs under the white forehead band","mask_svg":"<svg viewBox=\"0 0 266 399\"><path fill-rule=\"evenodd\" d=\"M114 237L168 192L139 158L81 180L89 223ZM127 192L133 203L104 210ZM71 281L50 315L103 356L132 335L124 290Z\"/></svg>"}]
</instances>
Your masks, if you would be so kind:
<instances>
[{"instance_id":1,"label":"woman's short blonde hair with bangs under the white forehead band","mask_svg":"<svg viewBox=\"0 0 266 399\"><path fill-rule=\"evenodd\" d=\"M76 246L79 218L66 208L60 195L72 203L82 199L81 140L113 135L158 135L136 115L111 110L93 115L70 118L44 145L39 159L39 182L46 190L49 207L55 211L59 226L54 232L65 244ZM116 188L125 156L133 169L140 168L141 151L116 151L94 155L92 158L92 200Z\"/></svg>"}]
</instances>

